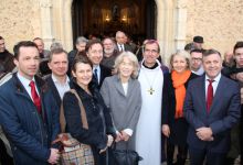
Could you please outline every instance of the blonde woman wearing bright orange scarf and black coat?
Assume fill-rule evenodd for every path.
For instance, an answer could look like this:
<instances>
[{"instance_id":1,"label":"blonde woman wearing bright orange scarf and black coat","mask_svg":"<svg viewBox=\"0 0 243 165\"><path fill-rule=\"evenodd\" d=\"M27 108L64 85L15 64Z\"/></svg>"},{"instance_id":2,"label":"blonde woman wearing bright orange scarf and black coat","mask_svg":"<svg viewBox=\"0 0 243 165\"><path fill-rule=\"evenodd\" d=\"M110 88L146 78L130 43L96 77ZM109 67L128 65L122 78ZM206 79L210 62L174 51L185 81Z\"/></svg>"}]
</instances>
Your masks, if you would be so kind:
<instances>
[{"instance_id":1,"label":"blonde woman wearing bright orange scarf and black coat","mask_svg":"<svg viewBox=\"0 0 243 165\"><path fill-rule=\"evenodd\" d=\"M171 73L163 77L162 89L162 133L167 141L167 164L172 165L175 146L178 145L177 164L187 158L188 123L183 118L183 101L190 79L197 75L190 70L189 54L178 51L170 57Z\"/></svg>"}]
</instances>

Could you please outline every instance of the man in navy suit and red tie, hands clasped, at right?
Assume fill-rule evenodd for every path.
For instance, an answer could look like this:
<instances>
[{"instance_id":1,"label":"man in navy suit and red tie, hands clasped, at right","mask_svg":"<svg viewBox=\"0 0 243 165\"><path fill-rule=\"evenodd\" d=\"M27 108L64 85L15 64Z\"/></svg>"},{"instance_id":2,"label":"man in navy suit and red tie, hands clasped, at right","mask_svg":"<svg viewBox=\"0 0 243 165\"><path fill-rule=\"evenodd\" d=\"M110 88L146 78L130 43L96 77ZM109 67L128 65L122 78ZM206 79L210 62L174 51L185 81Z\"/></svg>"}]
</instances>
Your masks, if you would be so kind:
<instances>
[{"instance_id":1,"label":"man in navy suit and red tie, hands clasped, at right","mask_svg":"<svg viewBox=\"0 0 243 165\"><path fill-rule=\"evenodd\" d=\"M222 165L230 150L230 131L241 112L239 85L221 75L218 51L205 51L205 74L189 82L184 117L190 124L188 144L191 165ZM225 90L226 89L226 90Z\"/></svg>"}]
</instances>

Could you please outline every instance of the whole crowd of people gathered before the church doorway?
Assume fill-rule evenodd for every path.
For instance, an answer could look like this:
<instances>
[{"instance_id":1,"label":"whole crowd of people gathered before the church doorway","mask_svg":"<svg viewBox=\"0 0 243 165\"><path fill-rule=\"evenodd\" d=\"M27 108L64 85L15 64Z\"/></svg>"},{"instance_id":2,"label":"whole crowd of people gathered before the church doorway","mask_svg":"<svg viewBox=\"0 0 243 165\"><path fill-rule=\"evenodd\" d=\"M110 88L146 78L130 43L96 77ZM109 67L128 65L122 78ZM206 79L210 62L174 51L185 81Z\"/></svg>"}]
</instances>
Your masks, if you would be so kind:
<instances>
[{"instance_id":1,"label":"whole crowd of people gathered before the church doorway","mask_svg":"<svg viewBox=\"0 0 243 165\"><path fill-rule=\"evenodd\" d=\"M0 124L14 164L59 162L59 145L52 142L61 133L61 106L64 131L91 145L96 165L115 165L109 154L114 143L117 150L136 151L142 157L140 165L163 161L183 165L188 153L192 165L224 164L231 129L241 118L240 85L232 79L243 79L243 44L234 47L236 66L224 67L226 74L221 74L223 61L215 50L191 45L172 54L168 68L159 58L156 40L144 42L137 51L142 57L139 62L124 32L118 31L115 38L78 37L71 53L55 44L45 55L35 43L43 45L40 37L21 41L7 63L0 37L2 77L17 66L17 73L0 87ZM203 38L197 36L193 42L202 44ZM42 65L50 74L40 73L40 62L45 62ZM71 89L82 100L88 129L83 127L78 99ZM0 157L2 164L13 163L3 150Z\"/></svg>"}]
</instances>

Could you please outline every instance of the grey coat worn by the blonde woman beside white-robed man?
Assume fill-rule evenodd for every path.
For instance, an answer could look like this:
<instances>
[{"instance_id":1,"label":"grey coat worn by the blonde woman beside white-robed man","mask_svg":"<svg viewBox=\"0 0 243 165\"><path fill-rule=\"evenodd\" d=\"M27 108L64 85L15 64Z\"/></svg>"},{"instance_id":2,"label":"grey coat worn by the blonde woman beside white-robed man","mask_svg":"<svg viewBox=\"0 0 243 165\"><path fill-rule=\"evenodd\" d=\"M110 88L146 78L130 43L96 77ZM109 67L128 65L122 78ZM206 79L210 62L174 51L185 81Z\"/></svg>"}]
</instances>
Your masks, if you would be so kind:
<instances>
[{"instance_id":1,"label":"grey coat worn by the blonde woman beside white-robed man","mask_svg":"<svg viewBox=\"0 0 243 165\"><path fill-rule=\"evenodd\" d=\"M128 148L135 150L135 131L140 114L141 92L137 79L128 80L128 90L125 95L118 75L107 77L102 86L101 94L106 106L110 109L113 122L117 131L131 129L134 131L128 141ZM125 148L126 143L119 142L116 147Z\"/></svg>"}]
</instances>

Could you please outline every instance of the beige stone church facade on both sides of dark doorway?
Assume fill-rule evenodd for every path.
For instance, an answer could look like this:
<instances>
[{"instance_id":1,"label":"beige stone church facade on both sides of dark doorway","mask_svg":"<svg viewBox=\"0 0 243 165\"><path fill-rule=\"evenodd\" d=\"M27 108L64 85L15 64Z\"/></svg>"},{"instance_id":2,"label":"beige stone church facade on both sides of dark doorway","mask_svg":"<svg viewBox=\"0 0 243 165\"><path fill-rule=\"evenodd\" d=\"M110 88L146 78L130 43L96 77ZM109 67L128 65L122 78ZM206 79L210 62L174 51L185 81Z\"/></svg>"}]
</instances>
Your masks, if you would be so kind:
<instances>
[{"instance_id":1,"label":"beige stone church facade on both sides of dark doorway","mask_svg":"<svg viewBox=\"0 0 243 165\"><path fill-rule=\"evenodd\" d=\"M194 35L204 37L204 47L221 53L243 40L242 0L155 0L157 4L156 36L161 55L168 58L183 48ZM7 48L21 40L44 38L49 47L53 41L72 50L73 0L1 0L0 35Z\"/></svg>"}]
</instances>

